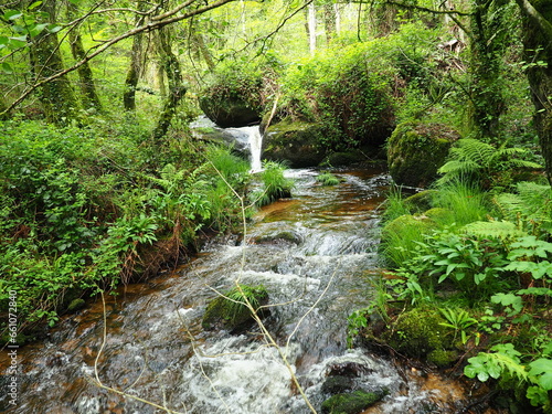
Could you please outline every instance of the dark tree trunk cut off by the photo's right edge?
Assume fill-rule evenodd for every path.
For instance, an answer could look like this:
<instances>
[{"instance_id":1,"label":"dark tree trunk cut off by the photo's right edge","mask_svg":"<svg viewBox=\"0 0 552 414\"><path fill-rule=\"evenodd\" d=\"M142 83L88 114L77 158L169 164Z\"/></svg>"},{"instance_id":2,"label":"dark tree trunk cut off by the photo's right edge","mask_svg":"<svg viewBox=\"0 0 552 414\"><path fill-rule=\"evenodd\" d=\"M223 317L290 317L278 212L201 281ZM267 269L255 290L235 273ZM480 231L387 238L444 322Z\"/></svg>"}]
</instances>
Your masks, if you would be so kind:
<instances>
[{"instance_id":1,"label":"dark tree trunk cut off by the photo's right edge","mask_svg":"<svg viewBox=\"0 0 552 414\"><path fill-rule=\"evenodd\" d=\"M527 75L546 176L552 183L552 0L516 0L523 15Z\"/></svg>"}]
</instances>

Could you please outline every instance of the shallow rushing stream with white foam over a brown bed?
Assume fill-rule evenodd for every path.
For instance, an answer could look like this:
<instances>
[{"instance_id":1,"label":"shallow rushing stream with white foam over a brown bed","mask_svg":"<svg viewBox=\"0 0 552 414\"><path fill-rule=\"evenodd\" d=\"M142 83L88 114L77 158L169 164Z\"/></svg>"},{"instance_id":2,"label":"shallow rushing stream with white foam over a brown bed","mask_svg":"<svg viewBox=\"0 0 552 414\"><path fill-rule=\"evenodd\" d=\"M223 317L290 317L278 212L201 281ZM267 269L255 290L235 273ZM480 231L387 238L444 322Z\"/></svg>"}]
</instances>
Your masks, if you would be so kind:
<instances>
[{"instance_id":1,"label":"shallow rushing stream with white foam over a brown bed","mask_svg":"<svg viewBox=\"0 0 552 414\"><path fill-rule=\"evenodd\" d=\"M0 412L148 414L166 406L189 414L306 414L289 369L320 412L329 396L322 383L340 367L355 367L357 388L389 391L367 414L460 412L467 397L455 382L348 349L347 317L370 304L379 272L378 206L390 178L375 169L332 172L342 182L322 187L317 170L289 170L294 198L262 209L245 237L212 240L176 272L106 296L106 325L98 299L65 317L45 341L20 349L18 405L1 395ZM236 280L264 285L270 304L280 304L264 323L289 369L258 327L202 329L215 290ZM7 367L6 352L1 358ZM96 374L128 395L99 388Z\"/></svg>"}]
</instances>

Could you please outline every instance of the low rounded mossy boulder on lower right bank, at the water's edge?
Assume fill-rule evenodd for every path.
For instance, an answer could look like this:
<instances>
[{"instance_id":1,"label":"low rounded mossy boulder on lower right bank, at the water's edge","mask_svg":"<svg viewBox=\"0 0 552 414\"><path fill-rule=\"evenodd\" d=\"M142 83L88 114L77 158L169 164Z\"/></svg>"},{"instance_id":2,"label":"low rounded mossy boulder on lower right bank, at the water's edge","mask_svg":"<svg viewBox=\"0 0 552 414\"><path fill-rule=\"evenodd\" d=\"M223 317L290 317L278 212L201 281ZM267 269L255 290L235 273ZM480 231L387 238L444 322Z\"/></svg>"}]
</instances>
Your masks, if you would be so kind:
<instances>
[{"instance_id":1,"label":"low rounded mossy boulder on lower right bank, at the water's edge","mask_svg":"<svg viewBox=\"0 0 552 414\"><path fill-rule=\"evenodd\" d=\"M442 323L446 320L437 310L414 308L401 314L383 337L399 352L425 358L433 351L454 348L447 328Z\"/></svg>"}]
</instances>

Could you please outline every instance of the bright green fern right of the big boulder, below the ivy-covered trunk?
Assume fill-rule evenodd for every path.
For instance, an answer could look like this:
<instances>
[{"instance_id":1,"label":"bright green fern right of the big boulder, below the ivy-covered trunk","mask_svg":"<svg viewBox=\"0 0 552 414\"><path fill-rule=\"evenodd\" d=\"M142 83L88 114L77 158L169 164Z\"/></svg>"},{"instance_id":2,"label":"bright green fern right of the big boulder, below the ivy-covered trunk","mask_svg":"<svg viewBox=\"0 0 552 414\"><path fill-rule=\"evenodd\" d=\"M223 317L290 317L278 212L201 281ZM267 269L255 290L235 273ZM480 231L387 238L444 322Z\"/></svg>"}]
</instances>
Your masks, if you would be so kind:
<instances>
[{"instance_id":1,"label":"bright green fern right of the big boulder, below the ivy-covered trunk","mask_svg":"<svg viewBox=\"0 0 552 414\"><path fill-rule=\"evenodd\" d=\"M507 147L506 144L495 148L477 139L459 139L456 147L450 149L449 160L438 170L439 173L444 174L438 183L466 176L475 179L488 179L499 171L509 169L542 168L535 162L516 158L516 156L524 156L527 152L523 148Z\"/></svg>"}]
</instances>

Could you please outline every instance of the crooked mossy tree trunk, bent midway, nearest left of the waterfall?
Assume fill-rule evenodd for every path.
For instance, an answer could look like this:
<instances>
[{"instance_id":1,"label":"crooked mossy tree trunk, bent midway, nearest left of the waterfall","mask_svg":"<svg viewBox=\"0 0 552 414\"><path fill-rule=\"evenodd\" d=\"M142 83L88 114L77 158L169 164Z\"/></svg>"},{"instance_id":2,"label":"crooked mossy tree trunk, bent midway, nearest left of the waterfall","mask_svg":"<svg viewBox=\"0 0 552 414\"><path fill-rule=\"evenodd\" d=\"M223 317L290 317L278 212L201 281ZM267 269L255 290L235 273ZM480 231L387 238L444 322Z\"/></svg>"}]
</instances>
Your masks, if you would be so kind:
<instances>
[{"instance_id":1,"label":"crooked mossy tree trunk, bent midway, nearest left of the waterfall","mask_svg":"<svg viewBox=\"0 0 552 414\"><path fill-rule=\"evenodd\" d=\"M187 91L182 83L180 62L174 53L172 53L170 29L168 26L161 28L158 31L158 51L161 59L161 65L167 74L169 92L164 98L161 115L152 132L155 141L160 141L167 134L178 105L184 97Z\"/></svg>"}]
</instances>

